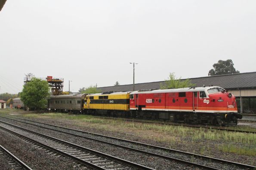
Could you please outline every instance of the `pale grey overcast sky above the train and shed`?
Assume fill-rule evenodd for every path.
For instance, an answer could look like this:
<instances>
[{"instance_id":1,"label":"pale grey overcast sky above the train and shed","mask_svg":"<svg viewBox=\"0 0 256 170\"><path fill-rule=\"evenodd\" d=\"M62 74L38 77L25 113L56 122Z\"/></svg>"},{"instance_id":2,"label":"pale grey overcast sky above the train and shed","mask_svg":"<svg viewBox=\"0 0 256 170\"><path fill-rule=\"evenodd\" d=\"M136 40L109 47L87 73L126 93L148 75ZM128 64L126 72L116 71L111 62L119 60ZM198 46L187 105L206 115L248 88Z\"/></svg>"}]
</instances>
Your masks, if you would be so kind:
<instances>
[{"instance_id":1,"label":"pale grey overcast sky above the train and shed","mask_svg":"<svg viewBox=\"0 0 256 170\"><path fill-rule=\"evenodd\" d=\"M218 60L256 71L256 0L7 0L0 12L0 93L24 74L64 90L208 75Z\"/></svg>"}]
</instances>

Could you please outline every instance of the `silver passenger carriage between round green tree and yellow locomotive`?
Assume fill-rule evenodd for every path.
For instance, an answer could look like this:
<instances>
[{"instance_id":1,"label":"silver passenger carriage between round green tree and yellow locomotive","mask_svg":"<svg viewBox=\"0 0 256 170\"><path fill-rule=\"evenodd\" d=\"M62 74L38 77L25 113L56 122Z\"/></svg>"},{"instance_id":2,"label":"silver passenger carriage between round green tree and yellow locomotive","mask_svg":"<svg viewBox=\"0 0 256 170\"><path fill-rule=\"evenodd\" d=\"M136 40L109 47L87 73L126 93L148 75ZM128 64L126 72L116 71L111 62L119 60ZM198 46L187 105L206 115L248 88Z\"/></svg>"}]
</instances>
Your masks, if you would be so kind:
<instances>
[{"instance_id":1,"label":"silver passenger carriage between round green tree and yellow locomotive","mask_svg":"<svg viewBox=\"0 0 256 170\"><path fill-rule=\"evenodd\" d=\"M84 98L87 94L51 95L48 109L58 112L80 113L83 110Z\"/></svg>"}]
</instances>

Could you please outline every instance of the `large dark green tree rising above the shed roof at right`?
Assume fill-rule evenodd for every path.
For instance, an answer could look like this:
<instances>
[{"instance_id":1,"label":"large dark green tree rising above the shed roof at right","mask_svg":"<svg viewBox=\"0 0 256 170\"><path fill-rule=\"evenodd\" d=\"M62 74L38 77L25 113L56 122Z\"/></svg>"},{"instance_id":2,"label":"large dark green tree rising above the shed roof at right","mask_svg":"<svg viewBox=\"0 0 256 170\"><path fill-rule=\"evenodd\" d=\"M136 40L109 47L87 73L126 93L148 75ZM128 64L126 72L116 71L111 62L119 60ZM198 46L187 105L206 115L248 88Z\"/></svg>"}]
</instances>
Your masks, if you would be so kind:
<instances>
[{"instance_id":1,"label":"large dark green tree rising above the shed roof at right","mask_svg":"<svg viewBox=\"0 0 256 170\"><path fill-rule=\"evenodd\" d=\"M213 64L213 68L214 69L210 69L208 76L240 73L234 68L234 63L230 59L226 61L219 60L218 63Z\"/></svg>"}]
</instances>

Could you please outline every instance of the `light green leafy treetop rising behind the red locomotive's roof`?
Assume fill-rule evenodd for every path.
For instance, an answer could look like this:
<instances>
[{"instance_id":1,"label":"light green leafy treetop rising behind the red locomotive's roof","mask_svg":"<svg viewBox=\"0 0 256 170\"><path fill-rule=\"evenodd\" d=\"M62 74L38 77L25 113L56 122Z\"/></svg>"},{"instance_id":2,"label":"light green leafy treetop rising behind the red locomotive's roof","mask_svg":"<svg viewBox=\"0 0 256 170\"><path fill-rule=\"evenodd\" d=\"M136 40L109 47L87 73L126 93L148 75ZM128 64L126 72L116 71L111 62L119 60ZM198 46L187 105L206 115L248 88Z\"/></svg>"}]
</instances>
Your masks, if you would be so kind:
<instances>
[{"instance_id":1,"label":"light green leafy treetop rising behind the red locomotive's roof","mask_svg":"<svg viewBox=\"0 0 256 170\"><path fill-rule=\"evenodd\" d=\"M165 80L163 84L160 84L161 89L168 88L184 88L184 87L193 87L196 84L192 84L189 79L181 80L180 78L176 78L174 73L170 73L169 78Z\"/></svg>"}]
</instances>

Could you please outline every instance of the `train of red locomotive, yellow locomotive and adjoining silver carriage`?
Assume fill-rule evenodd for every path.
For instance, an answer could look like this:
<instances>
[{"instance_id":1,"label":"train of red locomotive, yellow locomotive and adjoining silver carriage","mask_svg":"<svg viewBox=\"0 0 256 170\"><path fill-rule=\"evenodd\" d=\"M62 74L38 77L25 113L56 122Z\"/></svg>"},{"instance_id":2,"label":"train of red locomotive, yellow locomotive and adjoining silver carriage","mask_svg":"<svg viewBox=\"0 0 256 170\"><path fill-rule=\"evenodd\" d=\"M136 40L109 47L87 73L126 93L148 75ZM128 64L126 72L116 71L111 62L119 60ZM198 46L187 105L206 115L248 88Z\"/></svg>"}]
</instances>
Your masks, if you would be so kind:
<instances>
[{"instance_id":1,"label":"train of red locomotive, yellow locomotive and adjoining silver carriage","mask_svg":"<svg viewBox=\"0 0 256 170\"><path fill-rule=\"evenodd\" d=\"M51 96L48 109L213 125L242 119L234 95L219 86Z\"/></svg>"}]
</instances>

